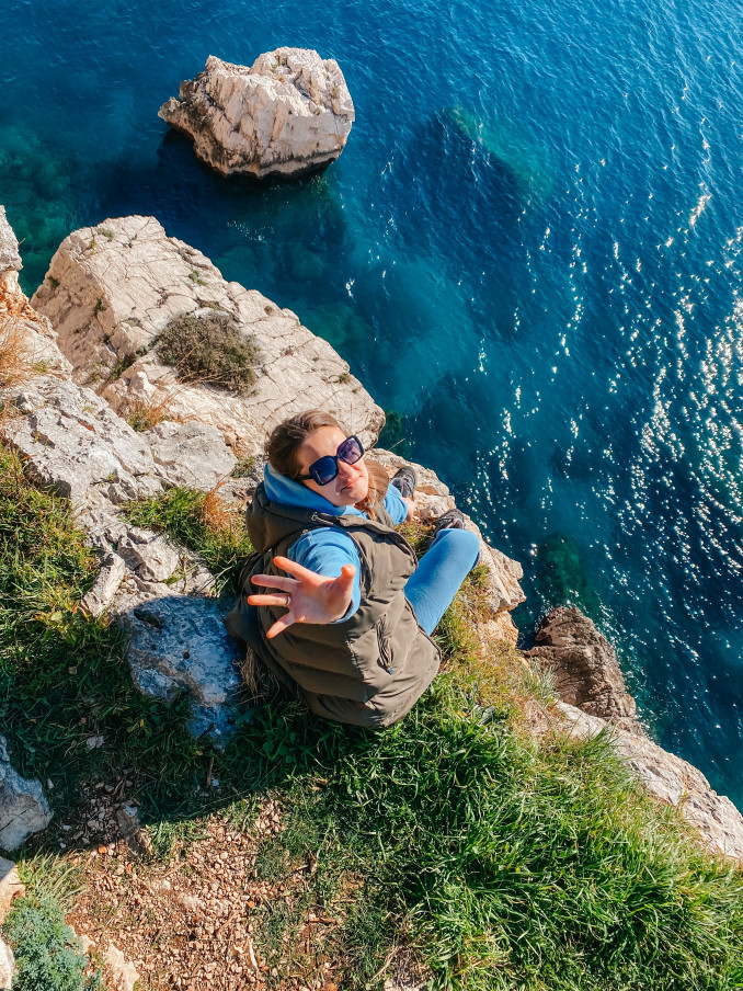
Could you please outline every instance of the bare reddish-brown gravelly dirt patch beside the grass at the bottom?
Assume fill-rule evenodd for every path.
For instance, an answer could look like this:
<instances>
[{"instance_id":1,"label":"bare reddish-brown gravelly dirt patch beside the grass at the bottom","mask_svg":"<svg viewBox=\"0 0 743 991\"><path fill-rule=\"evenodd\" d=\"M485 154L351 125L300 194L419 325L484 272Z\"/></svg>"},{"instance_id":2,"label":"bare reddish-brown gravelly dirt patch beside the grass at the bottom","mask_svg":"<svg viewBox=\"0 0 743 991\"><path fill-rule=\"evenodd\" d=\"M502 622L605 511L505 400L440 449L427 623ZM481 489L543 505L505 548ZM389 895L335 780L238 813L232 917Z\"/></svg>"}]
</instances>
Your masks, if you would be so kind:
<instances>
[{"instance_id":1,"label":"bare reddish-brown gravelly dirt patch beside the grass at the bottom","mask_svg":"<svg viewBox=\"0 0 743 991\"><path fill-rule=\"evenodd\" d=\"M342 971L329 936L338 913L307 902L316 865L287 865L279 879L258 876L262 843L281 832L281 810L267 801L250 831L222 815L175 843L167 862L137 858L125 841L77 855L85 890L68 916L104 953L113 942L139 972L139 987L182 991L336 991ZM271 916L290 913L294 930L266 956Z\"/></svg>"}]
</instances>

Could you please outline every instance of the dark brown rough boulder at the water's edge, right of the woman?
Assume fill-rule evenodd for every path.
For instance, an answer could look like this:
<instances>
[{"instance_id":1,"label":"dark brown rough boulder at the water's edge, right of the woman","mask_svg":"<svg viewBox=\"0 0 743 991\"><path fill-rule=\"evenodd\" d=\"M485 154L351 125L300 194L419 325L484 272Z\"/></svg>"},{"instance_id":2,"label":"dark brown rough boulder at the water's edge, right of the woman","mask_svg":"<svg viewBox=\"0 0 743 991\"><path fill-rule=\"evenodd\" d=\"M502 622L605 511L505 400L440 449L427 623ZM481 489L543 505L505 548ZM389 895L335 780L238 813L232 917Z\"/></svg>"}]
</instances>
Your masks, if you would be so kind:
<instances>
[{"instance_id":1,"label":"dark brown rough boulder at the water's edge, right of the woman","mask_svg":"<svg viewBox=\"0 0 743 991\"><path fill-rule=\"evenodd\" d=\"M614 648L580 610L561 606L548 613L526 657L555 674L557 693L569 705L601 718L635 718L635 699Z\"/></svg>"}]
</instances>

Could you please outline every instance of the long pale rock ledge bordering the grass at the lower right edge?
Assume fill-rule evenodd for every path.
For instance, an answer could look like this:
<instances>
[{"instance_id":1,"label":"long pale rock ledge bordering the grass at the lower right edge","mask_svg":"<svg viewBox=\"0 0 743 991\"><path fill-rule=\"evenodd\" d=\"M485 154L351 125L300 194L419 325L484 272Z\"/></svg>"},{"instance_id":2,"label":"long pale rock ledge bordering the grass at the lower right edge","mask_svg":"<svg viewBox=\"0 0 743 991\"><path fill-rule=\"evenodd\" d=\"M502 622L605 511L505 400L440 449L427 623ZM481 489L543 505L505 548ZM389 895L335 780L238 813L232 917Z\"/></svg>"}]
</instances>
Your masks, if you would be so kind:
<instances>
[{"instance_id":1,"label":"long pale rock ledge bordering the grass at the lower right edge","mask_svg":"<svg viewBox=\"0 0 743 991\"><path fill-rule=\"evenodd\" d=\"M556 715L560 727L581 739L593 739L602 731L610 732L617 753L648 790L661 801L675 806L697 831L707 850L743 866L743 816L727 796L712 789L697 767L644 736L626 732L565 703L557 705Z\"/></svg>"}]
</instances>

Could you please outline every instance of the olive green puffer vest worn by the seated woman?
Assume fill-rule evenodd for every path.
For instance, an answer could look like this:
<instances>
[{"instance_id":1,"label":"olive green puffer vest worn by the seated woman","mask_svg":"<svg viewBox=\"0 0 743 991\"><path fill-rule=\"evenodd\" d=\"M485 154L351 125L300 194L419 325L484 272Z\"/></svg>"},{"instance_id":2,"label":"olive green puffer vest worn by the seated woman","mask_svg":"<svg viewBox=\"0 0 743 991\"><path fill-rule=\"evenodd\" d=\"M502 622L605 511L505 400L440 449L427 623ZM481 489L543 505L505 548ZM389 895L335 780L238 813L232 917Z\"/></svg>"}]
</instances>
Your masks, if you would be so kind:
<instances>
[{"instance_id":1,"label":"olive green puffer vest worn by the seated woman","mask_svg":"<svg viewBox=\"0 0 743 991\"><path fill-rule=\"evenodd\" d=\"M248 532L259 551L241 576L244 595L253 574L282 574L273 558L286 555L309 529L340 526L361 559L361 605L341 623L295 623L268 640L283 608L256 610L260 642L250 646L270 669L296 683L312 711L355 726L390 726L408 713L433 681L441 653L421 629L404 584L415 570L412 547L382 509L380 519L333 516L272 502L263 485L248 510ZM244 602L244 600L242 600Z\"/></svg>"}]
</instances>

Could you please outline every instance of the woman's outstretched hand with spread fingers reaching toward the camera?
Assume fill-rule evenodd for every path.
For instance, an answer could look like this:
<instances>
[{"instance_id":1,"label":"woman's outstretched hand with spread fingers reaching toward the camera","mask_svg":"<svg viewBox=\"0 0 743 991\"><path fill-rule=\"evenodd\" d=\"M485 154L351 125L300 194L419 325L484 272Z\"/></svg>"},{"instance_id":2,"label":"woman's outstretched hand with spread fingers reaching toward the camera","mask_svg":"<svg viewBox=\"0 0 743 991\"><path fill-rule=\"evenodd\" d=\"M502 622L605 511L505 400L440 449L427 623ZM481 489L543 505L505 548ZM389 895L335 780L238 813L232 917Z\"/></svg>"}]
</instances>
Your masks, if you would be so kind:
<instances>
[{"instance_id":1,"label":"woman's outstretched hand with spread fingers reaching toward the camera","mask_svg":"<svg viewBox=\"0 0 743 991\"><path fill-rule=\"evenodd\" d=\"M333 623L348 611L356 574L353 565L344 565L338 578L318 574L317 571L302 568L301 565L285 557L275 557L274 565L293 577L254 574L253 584L278 591L248 596L251 605L284 606L288 610L286 615L271 627L266 634L268 639L281 634L293 623Z\"/></svg>"}]
</instances>

